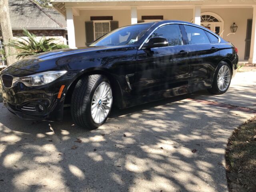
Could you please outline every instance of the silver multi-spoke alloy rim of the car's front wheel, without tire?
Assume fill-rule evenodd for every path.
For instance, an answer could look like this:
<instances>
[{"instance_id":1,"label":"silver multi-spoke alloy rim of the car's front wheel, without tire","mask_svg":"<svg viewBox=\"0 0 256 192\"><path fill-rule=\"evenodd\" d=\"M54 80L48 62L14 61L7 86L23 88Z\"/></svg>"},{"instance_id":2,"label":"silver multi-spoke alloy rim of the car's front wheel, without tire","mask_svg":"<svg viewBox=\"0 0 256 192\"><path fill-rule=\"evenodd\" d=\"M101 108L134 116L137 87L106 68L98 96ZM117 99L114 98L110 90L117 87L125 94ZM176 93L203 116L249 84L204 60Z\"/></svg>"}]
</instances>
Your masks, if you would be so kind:
<instances>
[{"instance_id":1,"label":"silver multi-spoke alloy rim of the car's front wheel, without tire","mask_svg":"<svg viewBox=\"0 0 256 192\"><path fill-rule=\"evenodd\" d=\"M106 119L110 112L112 101L113 97L110 84L102 82L96 88L92 97L91 115L95 123L100 124Z\"/></svg>"}]
</instances>

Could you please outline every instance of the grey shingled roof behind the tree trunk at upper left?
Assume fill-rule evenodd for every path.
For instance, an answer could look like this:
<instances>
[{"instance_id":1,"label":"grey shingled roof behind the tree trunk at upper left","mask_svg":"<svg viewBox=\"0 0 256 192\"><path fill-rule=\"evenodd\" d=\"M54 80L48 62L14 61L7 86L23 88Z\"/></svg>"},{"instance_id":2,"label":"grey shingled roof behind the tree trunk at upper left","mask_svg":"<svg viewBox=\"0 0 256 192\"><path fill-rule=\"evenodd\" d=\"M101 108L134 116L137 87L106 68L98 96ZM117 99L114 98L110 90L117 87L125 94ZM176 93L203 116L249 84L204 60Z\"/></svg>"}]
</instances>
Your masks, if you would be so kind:
<instances>
[{"instance_id":1,"label":"grey shingled roof behind the tree trunk at upper left","mask_svg":"<svg viewBox=\"0 0 256 192\"><path fill-rule=\"evenodd\" d=\"M9 0L12 29L66 29L65 18L54 9L40 7L32 0Z\"/></svg>"}]
</instances>

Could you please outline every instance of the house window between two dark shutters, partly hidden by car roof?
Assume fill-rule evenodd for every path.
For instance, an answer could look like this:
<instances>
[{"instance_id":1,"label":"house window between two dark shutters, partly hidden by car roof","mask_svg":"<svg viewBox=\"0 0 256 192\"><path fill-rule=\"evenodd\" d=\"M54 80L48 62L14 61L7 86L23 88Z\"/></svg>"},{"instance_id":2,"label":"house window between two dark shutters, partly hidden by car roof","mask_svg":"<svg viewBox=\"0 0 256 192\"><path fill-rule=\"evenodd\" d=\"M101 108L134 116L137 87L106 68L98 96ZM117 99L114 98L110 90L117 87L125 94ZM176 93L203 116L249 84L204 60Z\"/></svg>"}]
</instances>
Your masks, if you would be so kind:
<instances>
[{"instance_id":1,"label":"house window between two dark shutters, partly hidden by car roof","mask_svg":"<svg viewBox=\"0 0 256 192\"><path fill-rule=\"evenodd\" d=\"M94 21L94 40L110 32L110 21Z\"/></svg>"}]
</instances>

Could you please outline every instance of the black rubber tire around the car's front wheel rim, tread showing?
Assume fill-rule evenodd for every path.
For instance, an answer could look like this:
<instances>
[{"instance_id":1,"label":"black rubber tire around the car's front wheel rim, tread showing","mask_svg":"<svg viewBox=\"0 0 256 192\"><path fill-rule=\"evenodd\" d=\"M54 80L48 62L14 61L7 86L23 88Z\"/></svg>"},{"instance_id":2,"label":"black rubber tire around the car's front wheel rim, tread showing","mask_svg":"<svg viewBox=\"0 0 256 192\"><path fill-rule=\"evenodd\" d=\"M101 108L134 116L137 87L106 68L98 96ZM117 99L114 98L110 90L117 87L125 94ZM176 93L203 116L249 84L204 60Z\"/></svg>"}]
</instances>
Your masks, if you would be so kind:
<instances>
[{"instance_id":1,"label":"black rubber tire around the car's front wheel rim, tread showing","mask_svg":"<svg viewBox=\"0 0 256 192\"><path fill-rule=\"evenodd\" d=\"M106 119L102 123L97 124L94 122L91 115L92 97L96 88L102 82L108 82L108 84L110 84L108 78L103 75L97 74L84 76L83 78L78 80L72 94L70 104L71 116L76 124L88 130L94 130L98 128L99 126L104 124L108 118L108 116L106 116Z\"/></svg>"}]
</instances>

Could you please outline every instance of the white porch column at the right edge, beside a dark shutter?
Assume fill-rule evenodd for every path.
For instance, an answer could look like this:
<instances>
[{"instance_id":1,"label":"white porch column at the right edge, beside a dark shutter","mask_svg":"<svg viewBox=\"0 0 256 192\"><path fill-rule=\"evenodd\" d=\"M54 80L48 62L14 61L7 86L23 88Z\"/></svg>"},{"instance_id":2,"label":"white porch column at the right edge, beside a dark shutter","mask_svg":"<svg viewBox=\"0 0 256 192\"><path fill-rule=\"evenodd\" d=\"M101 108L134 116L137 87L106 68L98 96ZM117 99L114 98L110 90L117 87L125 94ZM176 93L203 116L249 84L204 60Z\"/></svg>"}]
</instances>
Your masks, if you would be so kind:
<instances>
[{"instance_id":1,"label":"white porch column at the right edge, beside a dark shutter","mask_svg":"<svg viewBox=\"0 0 256 192\"><path fill-rule=\"evenodd\" d=\"M250 58L248 62L251 64L256 64L256 6L253 6L252 37L250 47Z\"/></svg>"}]
</instances>

